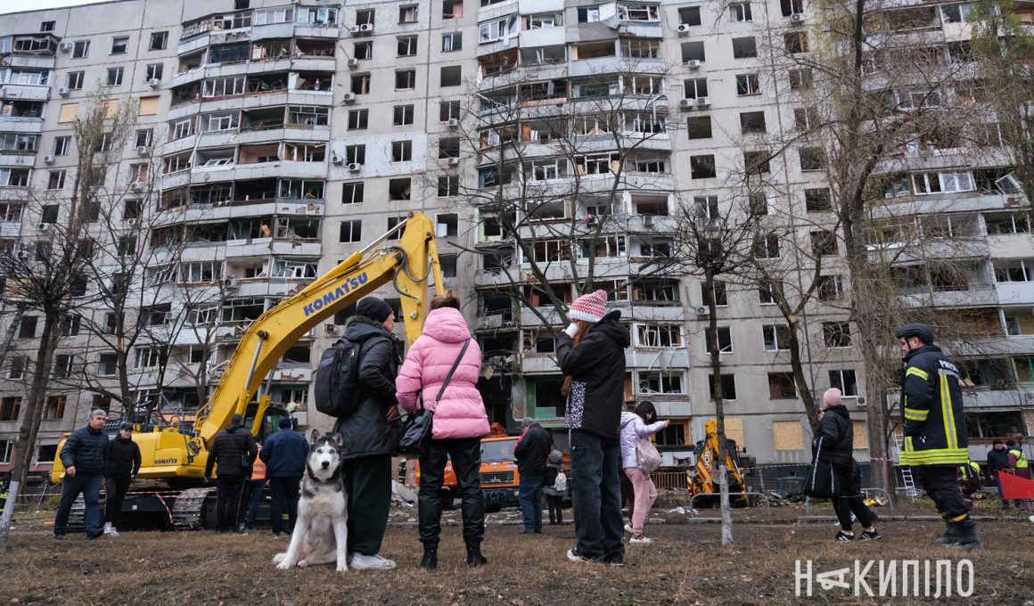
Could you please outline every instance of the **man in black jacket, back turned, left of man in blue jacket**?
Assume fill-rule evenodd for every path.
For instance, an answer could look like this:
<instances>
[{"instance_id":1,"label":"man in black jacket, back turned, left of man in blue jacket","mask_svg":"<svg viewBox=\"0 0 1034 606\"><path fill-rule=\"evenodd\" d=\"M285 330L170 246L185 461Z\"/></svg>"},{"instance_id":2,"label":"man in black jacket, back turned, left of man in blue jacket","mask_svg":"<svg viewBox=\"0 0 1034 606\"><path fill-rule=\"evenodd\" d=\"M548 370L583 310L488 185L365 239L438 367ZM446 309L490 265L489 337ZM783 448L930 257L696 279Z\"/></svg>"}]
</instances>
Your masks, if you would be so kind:
<instances>
[{"instance_id":1,"label":"man in black jacket, back turned, left of man in blue jacket","mask_svg":"<svg viewBox=\"0 0 1034 606\"><path fill-rule=\"evenodd\" d=\"M205 481L212 481L212 466L218 464L215 488L215 529L237 529L244 479L251 476L251 463L258 456L258 445L239 414L230 419L230 427L215 434L205 463ZM245 465L245 462L247 463Z\"/></svg>"}]
</instances>

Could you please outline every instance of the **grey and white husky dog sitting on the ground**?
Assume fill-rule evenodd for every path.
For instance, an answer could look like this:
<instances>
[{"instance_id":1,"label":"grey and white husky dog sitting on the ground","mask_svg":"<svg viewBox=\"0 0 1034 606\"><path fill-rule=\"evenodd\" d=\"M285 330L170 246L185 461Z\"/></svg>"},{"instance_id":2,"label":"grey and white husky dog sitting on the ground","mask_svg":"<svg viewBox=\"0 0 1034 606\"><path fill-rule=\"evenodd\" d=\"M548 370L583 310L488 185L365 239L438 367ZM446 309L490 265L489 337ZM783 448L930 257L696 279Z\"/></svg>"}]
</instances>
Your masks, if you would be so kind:
<instances>
[{"instance_id":1,"label":"grey and white husky dog sitting on the ground","mask_svg":"<svg viewBox=\"0 0 1034 606\"><path fill-rule=\"evenodd\" d=\"M340 433L321 436L312 430L291 546L273 556L280 570L333 562L338 572L348 570L348 495L341 482L341 440Z\"/></svg>"}]
</instances>

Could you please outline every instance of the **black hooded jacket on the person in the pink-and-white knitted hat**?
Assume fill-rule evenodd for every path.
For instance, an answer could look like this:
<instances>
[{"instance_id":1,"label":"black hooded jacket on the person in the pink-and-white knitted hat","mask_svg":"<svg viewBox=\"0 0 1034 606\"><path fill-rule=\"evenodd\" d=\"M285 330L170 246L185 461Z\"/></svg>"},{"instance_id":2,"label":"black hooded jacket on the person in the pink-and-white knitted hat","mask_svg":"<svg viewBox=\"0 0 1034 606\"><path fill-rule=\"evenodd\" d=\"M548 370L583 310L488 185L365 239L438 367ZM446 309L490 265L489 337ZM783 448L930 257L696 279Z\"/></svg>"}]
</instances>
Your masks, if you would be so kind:
<instances>
[{"instance_id":1,"label":"black hooded jacket on the person in the pink-and-white knitted hat","mask_svg":"<svg viewBox=\"0 0 1034 606\"><path fill-rule=\"evenodd\" d=\"M567 333L556 342L560 370L572 378L567 426L606 440L618 438L625 404L625 349L631 337L620 317L619 310L604 315L577 347Z\"/></svg>"}]
</instances>

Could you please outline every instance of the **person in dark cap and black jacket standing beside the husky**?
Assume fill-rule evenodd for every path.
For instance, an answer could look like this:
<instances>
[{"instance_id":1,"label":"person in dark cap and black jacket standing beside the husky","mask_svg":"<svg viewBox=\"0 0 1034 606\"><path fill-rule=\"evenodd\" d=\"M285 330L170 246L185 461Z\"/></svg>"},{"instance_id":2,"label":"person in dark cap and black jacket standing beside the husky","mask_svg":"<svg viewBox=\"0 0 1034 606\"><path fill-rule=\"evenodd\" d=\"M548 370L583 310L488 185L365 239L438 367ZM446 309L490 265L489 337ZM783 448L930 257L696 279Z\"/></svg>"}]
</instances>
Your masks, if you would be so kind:
<instances>
[{"instance_id":1,"label":"person in dark cap and black jacket standing beside the husky","mask_svg":"<svg viewBox=\"0 0 1034 606\"><path fill-rule=\"evenodd\" d=\"M376 297L356 305L344 337L360 349L359 405L337 420L342 441L341 478L348 494L348 552L353 569L391 569L395 563L379 555L391 508L391 455L398 441L395 376L397 341L392 335L395 312Z\"/></svg>"}]
</instances>

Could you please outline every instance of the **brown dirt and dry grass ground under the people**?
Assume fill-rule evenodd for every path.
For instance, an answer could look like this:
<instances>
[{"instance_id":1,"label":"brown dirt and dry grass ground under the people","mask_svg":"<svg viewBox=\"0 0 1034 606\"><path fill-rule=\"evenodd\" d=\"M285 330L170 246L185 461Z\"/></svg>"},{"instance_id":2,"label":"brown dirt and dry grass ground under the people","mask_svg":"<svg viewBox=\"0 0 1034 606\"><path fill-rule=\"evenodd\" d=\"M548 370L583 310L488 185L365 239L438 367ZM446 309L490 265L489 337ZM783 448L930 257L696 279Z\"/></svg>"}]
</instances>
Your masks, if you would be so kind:
<instances>
[{"instance_id":1,"label":"brown dirt and dry grass ground under the people","mask_svg":"<svg viewBox=\"0 0 1034 606\"><path fill-rule=\"evenodd\" d=\"M999 514L997 504L982 503L978 513ZM723 548L720 526L677 501L655 508L647 526L656 542L629 545L626 565L612 567L568 562L574 528L545 525L542 535L521 535L518 514L504 510L489 515L484 544L489 566L468 569L458 514L447 512L439 568L418 568L420 544L416 512L396 508L382 553L395 559L392 571L336 573L331 567L278 571L270 558L287 541L268 531L221 536L212 532L123 532L118 538L87 541L69 535L52 538L51 513L16 514L9 550L0 553L3 585L0 604L428 604L510 606L538 604L915 604L933 599L879 597L876 567L868 577L876 597L855 597L851 589L823 590L814 582L812 598L795 594L795 563L811 559L815 574L850 567L859 559L934 560L969 558L973 594L953 604L1034 606L1034 523L1013 513L979 523L985 548L963 554L935 547L939 521L888 520L888 508L878 526L877 542L837 543L831 520L800 521L802 505L736 512L735 543ZM21 510L20 510L21 512ZM566 512L570 515L570 510ZM812 515L828 515L828 506ZM929 515L929 502L899 507L899 515ZM877 565L878 566L878 565ZM889 566L889 564L888 564ZM954 572L955 565L952 565ZM846 579L853 583L849 575ZM952 581L954 584L954 581ZM920 581L920 592L922 592ZM903 590L899 575L896 595ZM945 602L944 598L937 600Z\"/></svg>"}]
</instances>

